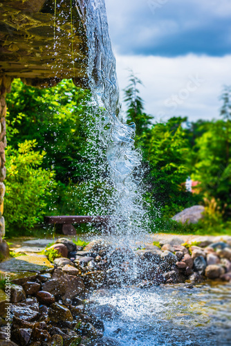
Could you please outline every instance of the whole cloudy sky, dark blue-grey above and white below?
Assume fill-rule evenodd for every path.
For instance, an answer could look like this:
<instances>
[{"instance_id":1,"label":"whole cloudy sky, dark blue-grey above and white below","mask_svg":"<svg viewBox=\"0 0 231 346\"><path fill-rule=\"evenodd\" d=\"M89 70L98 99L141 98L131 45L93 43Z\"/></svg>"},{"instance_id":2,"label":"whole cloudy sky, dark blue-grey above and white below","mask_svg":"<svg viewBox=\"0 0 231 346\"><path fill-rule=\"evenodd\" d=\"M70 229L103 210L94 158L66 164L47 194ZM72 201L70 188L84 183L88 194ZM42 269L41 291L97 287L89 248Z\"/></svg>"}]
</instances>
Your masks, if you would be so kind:
<instances>
[{"instance_id":1,"label":"whole cloudy sky, dark blue-grey above and white below","mask_svg":"<svg viewBox=\"0 0 231 346\"><path fill-rule=\"evenodd\" d=\"M231 1L105 3L120 89L132 69L156 120L218 118L219 95L231 84Z\"/></svg>"}]
</instances>

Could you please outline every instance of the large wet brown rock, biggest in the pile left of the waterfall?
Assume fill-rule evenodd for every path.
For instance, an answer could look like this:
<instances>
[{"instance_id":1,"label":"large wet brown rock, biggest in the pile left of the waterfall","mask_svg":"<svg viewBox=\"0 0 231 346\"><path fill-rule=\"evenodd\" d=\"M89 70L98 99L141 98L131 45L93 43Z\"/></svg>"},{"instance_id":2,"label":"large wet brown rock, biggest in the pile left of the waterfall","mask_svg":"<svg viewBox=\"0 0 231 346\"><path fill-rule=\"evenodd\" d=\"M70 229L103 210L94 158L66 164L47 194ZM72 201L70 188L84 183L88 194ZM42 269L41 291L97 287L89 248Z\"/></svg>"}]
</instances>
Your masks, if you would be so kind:
<instances>
[{"instance_id":1,"label":"large wet brown rock, biggest in the pile left of the waterfall","mask_svg":"<svg viewBox=\"0 0 231 346\"><path fill-rule=\"evenodd\" d=\"M42 285L43 291L48 291L53 295L62 295L64 300L72 299L75 295L79 295L85 289L84 282L81 277L68 275L60 269L54 271L52 280Z\"/></svg>"}]
</instances>

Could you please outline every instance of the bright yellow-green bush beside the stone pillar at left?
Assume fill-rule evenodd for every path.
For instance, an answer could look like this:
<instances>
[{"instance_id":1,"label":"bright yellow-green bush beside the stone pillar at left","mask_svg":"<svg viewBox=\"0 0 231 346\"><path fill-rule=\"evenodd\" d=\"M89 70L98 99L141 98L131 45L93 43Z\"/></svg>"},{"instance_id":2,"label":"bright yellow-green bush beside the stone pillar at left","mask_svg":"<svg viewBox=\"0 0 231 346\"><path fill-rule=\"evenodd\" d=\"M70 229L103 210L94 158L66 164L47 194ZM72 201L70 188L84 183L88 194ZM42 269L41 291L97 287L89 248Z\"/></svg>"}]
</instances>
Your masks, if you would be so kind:
<instances>
[{"instance_id":1,"label":"bright yellow-green bush beside the stone pillar at left","mask_svg":"<svg viewBox=\"0 0 231 346\"><path fill-rule=\"evenodd\" d=\"M25 140L18 149L6 150L6 201L8 235L30 230L42 220L55 188L54 172L41 168L44 152L35 151L36 140Z\"/></svg>"}]
</instances>

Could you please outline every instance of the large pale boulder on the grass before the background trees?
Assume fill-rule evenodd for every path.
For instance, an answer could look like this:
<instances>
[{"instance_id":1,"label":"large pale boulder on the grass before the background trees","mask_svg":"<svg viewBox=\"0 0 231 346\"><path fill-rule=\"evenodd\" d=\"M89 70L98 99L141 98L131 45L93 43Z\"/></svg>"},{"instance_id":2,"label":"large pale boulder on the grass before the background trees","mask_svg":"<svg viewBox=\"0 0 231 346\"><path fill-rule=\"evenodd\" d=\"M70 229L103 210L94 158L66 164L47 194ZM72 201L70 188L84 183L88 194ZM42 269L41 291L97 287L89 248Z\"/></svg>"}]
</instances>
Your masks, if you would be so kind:
<instances>
[{"instance_id":1,"label":"large pale boulder on the grass before the background trees","mask_svg":"<svg viewBox=\"0 0 231 346\"><path fill-rule=\"evenodd\" d=\"M203 218L204 211L205 207L203 206L193 206L178 212L178 214L172 217L172 220L182 222L182 224L197 224Z\"/></svg>"}]
</instances>

